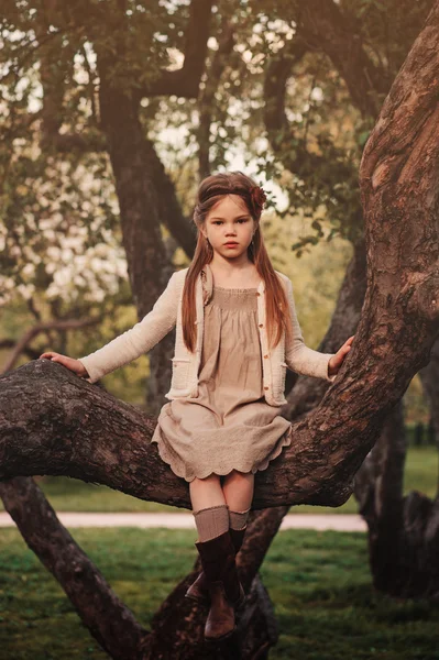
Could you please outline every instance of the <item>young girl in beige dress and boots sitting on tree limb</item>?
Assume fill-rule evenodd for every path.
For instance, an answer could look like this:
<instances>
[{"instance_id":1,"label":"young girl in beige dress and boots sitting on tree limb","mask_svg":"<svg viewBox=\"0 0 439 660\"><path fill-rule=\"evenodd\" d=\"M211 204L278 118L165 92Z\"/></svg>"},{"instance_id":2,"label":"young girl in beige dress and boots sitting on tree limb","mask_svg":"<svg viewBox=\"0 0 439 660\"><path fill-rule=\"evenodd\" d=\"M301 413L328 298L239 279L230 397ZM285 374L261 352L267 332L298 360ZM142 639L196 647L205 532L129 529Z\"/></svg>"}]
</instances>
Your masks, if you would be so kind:
<instances>
[{"instance_id":1,"label":"young girl in beige dress and boots sitting on tree limb","mask_svg":"<svg viewBox=\"0 0 439 660\"><path fill-rule=\"evenodd\" d=\"M151 350L176 324L171 399L152 442L189 483L202 571L187 597L210 605L206 639L235 628L244 592L238 553L253 498L254 475L290 444L281 416L286 367L333 381L353 337L337 353L305 345L292 283L274 271L261 234L263 189L241 172L205 178L188 268L173 274L154 308L95 353L74 360L47 352L95 383Z\"/></svg>"}]
</instances>

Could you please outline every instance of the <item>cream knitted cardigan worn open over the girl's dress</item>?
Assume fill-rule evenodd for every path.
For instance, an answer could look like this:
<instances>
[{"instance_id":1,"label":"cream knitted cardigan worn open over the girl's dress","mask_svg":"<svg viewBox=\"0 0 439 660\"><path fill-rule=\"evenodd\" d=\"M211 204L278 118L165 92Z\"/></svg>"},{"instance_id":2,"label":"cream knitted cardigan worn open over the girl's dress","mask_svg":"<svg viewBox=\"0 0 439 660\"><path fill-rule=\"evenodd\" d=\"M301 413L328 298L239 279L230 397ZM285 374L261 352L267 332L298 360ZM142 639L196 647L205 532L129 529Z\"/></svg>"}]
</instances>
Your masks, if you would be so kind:
<instances>
[{"instance_id":1,"label":"cream knitted cardigan worn open over the girl's dress","mask_svg":"<svg viewBox=\"0 0 439 660\"><path fill-rule=\"evenodd\" d=\"M96 383L106 374L132 362L143 353L147 353L176 326L175 351L171 358L172 381L171 389L165 394L168 399L196 397L198 395L198 372L201 361L204 336L204 307L212 294L212 272L206 264L196 283L196 321L197 341L195 352L190 352L183 341L182 327L182 296L188 268L176 271L171 276L163 294L156 300L152 310L101 349L79 358L87 370L90 383ZM268 349L265 328L265 285L263 282L257 287L257 328L260 331L263 388L264 398L271 406L281 406L286 403L285 377L286 369L317 378L333 382L336 375L328 375L329 360L334 353L320 353L305 345L304 338L293 296L290 279L275 271L286 287L289 314L293 321L293 340L288 345L285 341L285 331L279 343L272 350Z\"/></svg>"}]
</instances>

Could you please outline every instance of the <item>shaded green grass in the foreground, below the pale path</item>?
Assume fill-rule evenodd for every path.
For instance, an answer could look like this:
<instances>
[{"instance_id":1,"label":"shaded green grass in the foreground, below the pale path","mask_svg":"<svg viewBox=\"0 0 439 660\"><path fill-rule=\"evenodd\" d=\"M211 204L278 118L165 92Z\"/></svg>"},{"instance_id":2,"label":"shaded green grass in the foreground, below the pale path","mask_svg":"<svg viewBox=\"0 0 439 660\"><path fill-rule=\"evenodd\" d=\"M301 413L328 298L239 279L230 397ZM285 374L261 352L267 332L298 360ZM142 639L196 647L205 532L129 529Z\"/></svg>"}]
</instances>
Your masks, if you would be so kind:
<instances>
[{"instance_id":1,"label":"shaded green grass in the foreground, below the pale path","mask_svg":"<svg viewBox=\"0 0 439 660\"><path fill-rule=\"evenodd\" d=\"M149 628L162 601L193 568L196 537L188 530L121 531L72 530ZM439 606L374 593L364 534L282 531L261 575L279 625L271 660L439 659ZM15 528L0 531L0 617L4 660L107 658Z\"/></svg>"}]
</instances>

